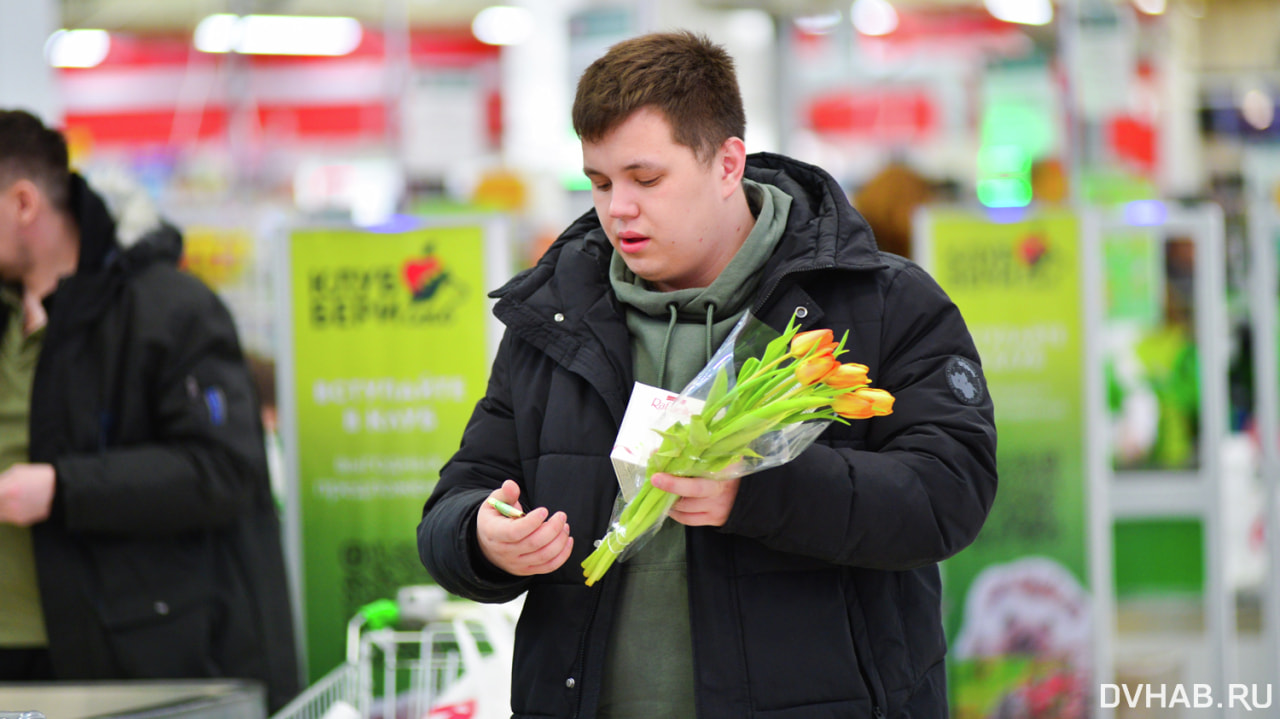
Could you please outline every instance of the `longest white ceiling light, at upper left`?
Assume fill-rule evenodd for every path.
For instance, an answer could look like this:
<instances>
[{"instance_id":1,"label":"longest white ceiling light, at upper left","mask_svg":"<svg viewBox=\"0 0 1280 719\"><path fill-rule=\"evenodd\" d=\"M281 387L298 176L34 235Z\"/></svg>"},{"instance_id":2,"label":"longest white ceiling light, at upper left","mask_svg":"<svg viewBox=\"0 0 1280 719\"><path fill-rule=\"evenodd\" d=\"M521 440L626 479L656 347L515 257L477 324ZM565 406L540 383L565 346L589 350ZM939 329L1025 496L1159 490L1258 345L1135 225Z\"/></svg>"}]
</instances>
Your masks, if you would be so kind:
<instances>
[{"instance_id":1,"label":"longest white ceiling light, at upper left","mask_svg":"<svg viewBox=\"0 0 1280 719\"><path fill-rule=\"evenodd\" d=\"M209 15L196 26L202 52L246 55L348 55L364 38L355 18L303 15Z\"/></svg>"}]
</instances>

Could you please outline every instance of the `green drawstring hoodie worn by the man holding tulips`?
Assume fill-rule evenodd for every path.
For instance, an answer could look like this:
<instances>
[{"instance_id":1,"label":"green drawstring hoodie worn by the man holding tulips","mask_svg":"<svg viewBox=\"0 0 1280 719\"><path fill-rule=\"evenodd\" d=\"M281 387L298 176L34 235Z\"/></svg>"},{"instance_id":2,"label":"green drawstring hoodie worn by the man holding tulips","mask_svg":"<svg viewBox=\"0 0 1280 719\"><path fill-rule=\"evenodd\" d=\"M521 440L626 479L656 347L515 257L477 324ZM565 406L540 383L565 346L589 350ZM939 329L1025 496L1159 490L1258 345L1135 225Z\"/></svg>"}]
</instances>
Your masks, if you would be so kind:
<instances>
[{"instance_id":1,"label":"green drawstring hoodie worn by the man holding tulips","mask_svg":"<svg viewBox=\"0 0 1280 719\"><path fill-rule=\"evenodd\" d=\"M613 253L609 280L626 306L636 381L684 389L750 307L764 264L786 228L791 196L748 179L742 187L755 226L709 287L658 292ZM648 545L613 571L623 574L622 595L604 660L599 716L694 716L684 526L663 523Z\"/></svg>"}]
</instances>

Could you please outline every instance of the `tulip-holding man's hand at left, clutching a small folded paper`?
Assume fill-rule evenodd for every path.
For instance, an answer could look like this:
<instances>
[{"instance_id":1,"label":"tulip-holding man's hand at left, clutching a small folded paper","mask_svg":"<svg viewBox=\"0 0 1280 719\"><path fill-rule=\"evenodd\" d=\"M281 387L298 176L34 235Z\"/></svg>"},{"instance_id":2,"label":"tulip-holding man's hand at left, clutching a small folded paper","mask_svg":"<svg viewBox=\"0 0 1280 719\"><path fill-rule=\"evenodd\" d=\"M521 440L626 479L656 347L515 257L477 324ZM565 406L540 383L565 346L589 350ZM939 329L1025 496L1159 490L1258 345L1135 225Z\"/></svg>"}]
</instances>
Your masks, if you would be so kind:
<instances>
[{"instance_id":1,"label":"tulip-holding man's hand at left, clutching a small folded paper","mask_svg":"<svg viewBox=\"0 0 1280 719\"><path fill-rule=\"evenodd\" d=\"M518 507L520 485L507 480L489 496ZM476 537L480 551L495 567L518 577L547 574L558 569L573 550L568 533L568 517L563 512L549 516L545 507L524 517L504 517L488 502L480 504Z\"/></svg>"}]
</instances>

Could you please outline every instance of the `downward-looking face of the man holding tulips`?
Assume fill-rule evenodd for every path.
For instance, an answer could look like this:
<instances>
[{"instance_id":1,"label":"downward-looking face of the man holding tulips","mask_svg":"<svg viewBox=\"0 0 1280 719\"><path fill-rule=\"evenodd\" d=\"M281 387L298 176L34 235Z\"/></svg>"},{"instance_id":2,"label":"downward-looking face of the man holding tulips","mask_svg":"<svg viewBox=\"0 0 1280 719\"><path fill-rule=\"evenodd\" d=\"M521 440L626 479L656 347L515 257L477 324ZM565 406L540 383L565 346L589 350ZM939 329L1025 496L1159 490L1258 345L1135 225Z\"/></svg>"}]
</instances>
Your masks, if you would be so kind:
<instances>
[{"instance_id":1,"label":"downward-looking face of the man holding tulips","mask_svg":"<svg viewBox=\"0 0 1280 719\"><path fill-rule=\"evenodd\" d=\"M582 142L595 214L632 273L667 292L707 287L750 232L730 200L740 179L724 147L710 162L672 139L666 116L636 110L599 142ZM750 215L746 215L750 220Z\"/></svg>"}]
</instances>

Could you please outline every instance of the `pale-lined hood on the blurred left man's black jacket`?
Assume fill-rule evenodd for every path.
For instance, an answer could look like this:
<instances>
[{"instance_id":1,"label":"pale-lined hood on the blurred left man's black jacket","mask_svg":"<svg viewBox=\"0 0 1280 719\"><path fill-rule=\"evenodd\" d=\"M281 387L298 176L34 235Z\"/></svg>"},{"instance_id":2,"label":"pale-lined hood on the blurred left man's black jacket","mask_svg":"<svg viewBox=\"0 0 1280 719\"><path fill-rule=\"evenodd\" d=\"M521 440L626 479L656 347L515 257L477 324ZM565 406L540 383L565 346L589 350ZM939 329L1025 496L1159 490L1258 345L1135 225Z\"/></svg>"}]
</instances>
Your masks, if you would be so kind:
<instances>
[{"instance_id":1,"label":"pale-lined hood on the blurred left man's black jacket","mask_svg":"<svg viewBox=\"0 0 1280 719\"><path fill-rule=\"evenodd\" d=\"M178 264L182 234L160 217L141 187L119 173L95 177L93 184L72 173L70 210L81 234L77 273L118 261L128 267Z\"/></svg>"}]
</instances>

